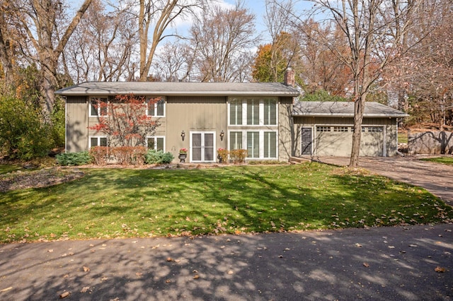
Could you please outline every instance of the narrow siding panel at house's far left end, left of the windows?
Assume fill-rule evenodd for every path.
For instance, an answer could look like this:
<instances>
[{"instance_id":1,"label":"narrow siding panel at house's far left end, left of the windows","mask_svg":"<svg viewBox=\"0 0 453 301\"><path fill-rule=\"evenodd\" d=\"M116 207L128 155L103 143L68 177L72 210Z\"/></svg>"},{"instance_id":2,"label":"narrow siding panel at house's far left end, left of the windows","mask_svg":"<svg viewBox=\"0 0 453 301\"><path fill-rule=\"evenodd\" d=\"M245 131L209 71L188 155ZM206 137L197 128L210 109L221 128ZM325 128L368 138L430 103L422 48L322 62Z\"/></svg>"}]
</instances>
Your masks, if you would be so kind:
<instances>
[{"instance_id":1,"label":"narrow siding panel at house's far left end, left of the windows","mask_svg":"<svg viewBox=\"0 0 453 301\"><path fill-rule=\"evenodd\" d=\"M66 100L66 151L76 153L88 149L88 100L84 96Z\"/></svg>"}]
</instances>

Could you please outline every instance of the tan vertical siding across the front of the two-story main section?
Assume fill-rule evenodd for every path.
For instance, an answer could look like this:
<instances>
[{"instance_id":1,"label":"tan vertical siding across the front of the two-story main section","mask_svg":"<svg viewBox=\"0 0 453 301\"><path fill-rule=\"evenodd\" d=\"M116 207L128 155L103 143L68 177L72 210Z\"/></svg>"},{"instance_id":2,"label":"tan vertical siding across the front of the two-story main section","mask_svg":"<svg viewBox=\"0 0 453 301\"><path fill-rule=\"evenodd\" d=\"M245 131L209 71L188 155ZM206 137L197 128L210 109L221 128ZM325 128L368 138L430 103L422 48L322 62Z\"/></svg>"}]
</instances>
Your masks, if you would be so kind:
<instances>
[{"instance_id":1,"label":"tan vertical siding across the front of the two-story main section","mask_svg":"<svg viewBox=\"0 0 453 301\"><path fill-rule=\"evenodd\" d=\"M96 97L96 95L93 95ZM257 97L253 99L265 99ZM111 99L111 98L110 98ZM244 98L246 99L246 98ZM297 153L297 128L294 127L292 98L277 98L277 124L260 126L230 126L228 122L229 98L225 97L166 97L164 117L155 117L159 126L152 136L164 137L164 151L171 152L178 162L180 148L187 148L186 162L193 161L193 135L209 134L213 138L213 160L217 161L217 149L229 149L229 131L277 131L277 160L287 161L290 155ZM88 126L98 124L98 117L90 117L89 97L67 98L67 152L88 150L90 136L105 136L88 130ZM184 131L185 139L181 138ZM220 136L224 132L223 140ZM242 148L247 148L243 146Z\"/></svg>"}]
</instances>

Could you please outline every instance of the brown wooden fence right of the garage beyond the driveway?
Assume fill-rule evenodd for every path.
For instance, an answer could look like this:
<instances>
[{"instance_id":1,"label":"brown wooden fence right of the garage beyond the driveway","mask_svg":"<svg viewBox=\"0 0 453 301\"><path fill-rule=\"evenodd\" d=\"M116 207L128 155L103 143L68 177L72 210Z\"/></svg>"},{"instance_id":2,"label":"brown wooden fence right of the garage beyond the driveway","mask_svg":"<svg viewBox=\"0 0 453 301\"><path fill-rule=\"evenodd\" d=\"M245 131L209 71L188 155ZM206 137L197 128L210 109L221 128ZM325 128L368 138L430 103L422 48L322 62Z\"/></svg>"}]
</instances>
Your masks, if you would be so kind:
<instances>
[{"instance_id":1,"label":"brown wooden fence right of the garage beyond the driveway","mask_svg":"<svg viewBox=\"0 0 453 301\"><path fill-rule=\"evenodd\" d=\"M450 131L425 131L408 133L408 153L415 154L452 154L453 133Z\"/></svg>"}]
</instances>

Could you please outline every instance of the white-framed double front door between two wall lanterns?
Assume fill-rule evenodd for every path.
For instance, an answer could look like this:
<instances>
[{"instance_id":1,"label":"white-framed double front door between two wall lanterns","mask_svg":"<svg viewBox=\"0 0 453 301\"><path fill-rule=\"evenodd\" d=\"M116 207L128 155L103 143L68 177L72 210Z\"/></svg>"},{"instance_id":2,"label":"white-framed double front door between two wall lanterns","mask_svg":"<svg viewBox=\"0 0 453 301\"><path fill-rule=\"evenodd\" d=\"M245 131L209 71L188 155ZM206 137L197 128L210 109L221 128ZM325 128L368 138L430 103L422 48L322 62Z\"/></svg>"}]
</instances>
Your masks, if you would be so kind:
<instances>
[{"instance_id":1,"label":"white-framed double front door between two wall lanterns","mask_svg":"<svg viewBox=\"0 0 453 301\"><path fill-rule=\"evenodd\" d=\"M190 162L215 162L215 131L190 132Z\"/></svg>"}]
</instances>

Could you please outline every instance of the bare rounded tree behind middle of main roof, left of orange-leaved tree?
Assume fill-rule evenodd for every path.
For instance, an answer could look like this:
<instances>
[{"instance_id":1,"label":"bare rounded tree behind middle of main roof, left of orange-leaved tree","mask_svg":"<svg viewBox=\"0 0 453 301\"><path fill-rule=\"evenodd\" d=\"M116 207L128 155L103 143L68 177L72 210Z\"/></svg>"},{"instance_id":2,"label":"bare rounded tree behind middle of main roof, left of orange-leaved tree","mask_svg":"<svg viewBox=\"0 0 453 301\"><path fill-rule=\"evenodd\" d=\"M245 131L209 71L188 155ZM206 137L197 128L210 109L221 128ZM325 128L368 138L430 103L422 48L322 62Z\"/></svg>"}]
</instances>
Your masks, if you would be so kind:
<instances>
[{"instance_id":1,"label":"bare rounded tree behind middle of main roof, left of orange-leaved tree","mask_svg":"<svg viewBox=\"0 0 453 301\"><path fill-rule=\"evenodd\" d=\"M239 1L231 9L214 6L195 21L190 29L190 45L200 81L243 79L240 67L256 44L254 20L255 16Z\"/></svg>"}]
</instances>

